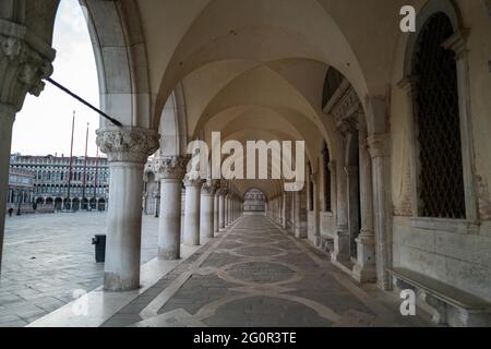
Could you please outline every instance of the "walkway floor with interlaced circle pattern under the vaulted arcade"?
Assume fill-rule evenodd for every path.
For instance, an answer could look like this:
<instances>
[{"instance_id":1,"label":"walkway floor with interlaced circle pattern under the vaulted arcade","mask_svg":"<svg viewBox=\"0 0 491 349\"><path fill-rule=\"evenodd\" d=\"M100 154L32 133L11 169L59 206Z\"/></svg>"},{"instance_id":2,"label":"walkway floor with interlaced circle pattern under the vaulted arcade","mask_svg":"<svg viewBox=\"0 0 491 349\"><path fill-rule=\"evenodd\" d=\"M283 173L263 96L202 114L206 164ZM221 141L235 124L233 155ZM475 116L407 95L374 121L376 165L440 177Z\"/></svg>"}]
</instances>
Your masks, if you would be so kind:
<instances>
[{"instance_id":1,"label":"walkway floor with interlaced circle pattern under the vaulted arcade","mask_svg":"<svg viewBox=\"0 0 491 349\"><path fill-rule=\"evenodd\" d=\"M104 326L426 326L396 300L360 288L327 256L249 216L201 249Z\"/></svg>"}]
</instances>

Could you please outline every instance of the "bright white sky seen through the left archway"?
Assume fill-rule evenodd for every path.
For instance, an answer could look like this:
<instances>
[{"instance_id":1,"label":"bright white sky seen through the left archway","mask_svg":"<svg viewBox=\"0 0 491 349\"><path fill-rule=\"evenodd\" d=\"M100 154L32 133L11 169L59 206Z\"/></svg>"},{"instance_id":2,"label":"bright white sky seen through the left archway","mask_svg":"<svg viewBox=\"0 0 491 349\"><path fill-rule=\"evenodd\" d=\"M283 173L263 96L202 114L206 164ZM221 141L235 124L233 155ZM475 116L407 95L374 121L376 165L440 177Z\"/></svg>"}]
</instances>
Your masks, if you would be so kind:
<instances>
[{"instance_id":1,"label":"bright white sky seen through the left archway","mask_svg":"<svg viewBox=\"0 0 491 349\"><path fill-rule=\"evenodd\" d=\"M53 47L57 58L53 62L52 79L98 107L97 70L87 26L77 0L60 1ZM22 111L17 113L12 153L69 155L73 110L76 112L73 154L84 155L88 122L88 155L95 156L98 115L49 83L39 97L29 95Z\"/></svg>"}]
</instances>

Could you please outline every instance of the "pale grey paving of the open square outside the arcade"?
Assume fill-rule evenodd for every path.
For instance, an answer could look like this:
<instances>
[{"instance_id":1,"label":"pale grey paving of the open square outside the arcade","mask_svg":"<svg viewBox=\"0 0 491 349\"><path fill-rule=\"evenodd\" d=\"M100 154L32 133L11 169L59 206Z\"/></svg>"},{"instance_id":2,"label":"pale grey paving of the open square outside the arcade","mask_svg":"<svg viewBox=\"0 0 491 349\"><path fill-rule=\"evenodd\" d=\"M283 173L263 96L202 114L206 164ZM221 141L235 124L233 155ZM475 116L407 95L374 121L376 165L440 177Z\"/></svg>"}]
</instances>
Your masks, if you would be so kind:
<instances>
[{"instance_id":1,"label":"pale grey paving of the open square outside the arcade","mask_svg":"<svg viewBox=\"0 0 491 349\"><path fill-rule=\"evenodd\" d=\"M94 260L94 233L104 213L8 217L0 278L0 327L24 326L73 301L73 292L103 284ZM157 255L158 219L143 218L142 262Z\"/></svg>"}]
</instances>

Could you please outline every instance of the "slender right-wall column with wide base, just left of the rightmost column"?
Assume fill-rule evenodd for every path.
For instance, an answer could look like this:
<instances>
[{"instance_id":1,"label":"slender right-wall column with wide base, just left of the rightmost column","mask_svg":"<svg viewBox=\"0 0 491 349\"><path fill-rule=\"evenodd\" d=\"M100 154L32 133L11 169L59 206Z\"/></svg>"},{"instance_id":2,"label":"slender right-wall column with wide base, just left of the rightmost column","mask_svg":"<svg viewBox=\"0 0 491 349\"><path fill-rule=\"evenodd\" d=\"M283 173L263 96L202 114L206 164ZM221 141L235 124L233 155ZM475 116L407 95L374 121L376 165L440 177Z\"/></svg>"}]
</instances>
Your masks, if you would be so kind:
<instances>
[{"instance_id":1,"label":"slender right-wall column with wide base, just left of the rightmost column","mask_svg":"<svg viewBox=\"0 0 491 349\"><path fill-rule=\"evenodd\" d=\"M372 282L376 280L372 161L367 144L367 129L362 123L359 130L359 147L361 229L356 240L357 264L352 272L358 282Z\"/></svg>"}]
</instances>

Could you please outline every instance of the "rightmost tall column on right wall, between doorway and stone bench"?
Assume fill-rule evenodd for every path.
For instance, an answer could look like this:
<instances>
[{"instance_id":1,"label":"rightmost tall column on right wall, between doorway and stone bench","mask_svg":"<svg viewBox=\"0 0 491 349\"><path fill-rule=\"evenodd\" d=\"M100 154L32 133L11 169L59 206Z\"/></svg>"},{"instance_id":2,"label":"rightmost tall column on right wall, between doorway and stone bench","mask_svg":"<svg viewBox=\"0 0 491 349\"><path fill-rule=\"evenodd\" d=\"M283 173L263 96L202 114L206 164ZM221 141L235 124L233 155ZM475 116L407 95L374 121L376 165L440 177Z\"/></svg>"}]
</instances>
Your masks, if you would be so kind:
<instances>
[{"instance_id":1,"label":"rightmost tall column on right wall, between doorway and stone bench","mask_svg":"<svg viewBox=\"0 0 491 349\"><path fill-rule=\"evenodd\" d=\"M372 157L373 216L375 230L376 279L383 290L391 290L387 268L392 266L392 194L391 194L391 135L368 137Z\"/></svg>"}]
</instances>

